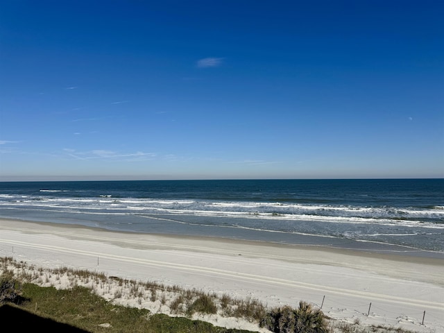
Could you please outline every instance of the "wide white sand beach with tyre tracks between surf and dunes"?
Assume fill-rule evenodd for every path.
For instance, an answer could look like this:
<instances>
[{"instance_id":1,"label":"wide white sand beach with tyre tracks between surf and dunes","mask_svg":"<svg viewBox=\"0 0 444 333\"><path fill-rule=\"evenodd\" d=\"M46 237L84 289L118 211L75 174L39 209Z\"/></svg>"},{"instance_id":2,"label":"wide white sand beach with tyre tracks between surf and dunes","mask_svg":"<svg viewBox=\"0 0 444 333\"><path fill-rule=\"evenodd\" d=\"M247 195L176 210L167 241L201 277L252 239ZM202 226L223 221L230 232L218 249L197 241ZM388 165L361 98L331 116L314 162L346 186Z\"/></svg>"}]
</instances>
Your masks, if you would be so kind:
<instances>
[{"instance_id":1,"label":"wide white sand beach with tyre tracks between surf and dunes","mask_svg":"<svg viewBox=\"0 0 444 333\"><path fill-rule=\"evenodd\" d=\"M0 257L10 256L47 268L256 298L270 307L296 307L300 300L321 307L325 296L324 313L338 320L444 332L443 259L0 220ZM232 318L204 319L259 330Z\"/></svg>"}]
</instances>

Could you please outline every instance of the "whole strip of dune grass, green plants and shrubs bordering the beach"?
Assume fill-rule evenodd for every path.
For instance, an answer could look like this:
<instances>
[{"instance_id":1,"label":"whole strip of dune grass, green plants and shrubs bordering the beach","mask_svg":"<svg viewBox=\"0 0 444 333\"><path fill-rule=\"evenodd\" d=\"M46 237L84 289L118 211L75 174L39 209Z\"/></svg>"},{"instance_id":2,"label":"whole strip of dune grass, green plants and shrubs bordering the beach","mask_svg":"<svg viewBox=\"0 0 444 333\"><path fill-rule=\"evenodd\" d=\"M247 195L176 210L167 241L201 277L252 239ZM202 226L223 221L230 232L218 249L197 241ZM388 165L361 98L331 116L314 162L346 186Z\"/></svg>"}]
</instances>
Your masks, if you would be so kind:
<instances>
[{"instance_id":1,"label":"whole strip of dune grass, green plants and shrubs bordering the beach","mask_svg":"<svg viewBox=\"0 0 444 333\"><path fill-rule=\"evenodd\" d=\"M191 319L195 314L197 318L219 314L258 323L275 333L413 333L396 327L363 327L359 320L353 324L335 322L321 309L303 301L296 309L289 306L266 309L261 302L250 298L239 300L228 294L219 297L196 289L123 280L67 267L35 268L11 257L0 257L0 268L0 307L12 303L38 318L49 318L87 332L249 332ZM137 300L140 309L119 305L125 304L124 300ZM155 303L156 312L168 307L178 317L144 309L143 305L150 302Z\"/></svg>"}]
</instances>

